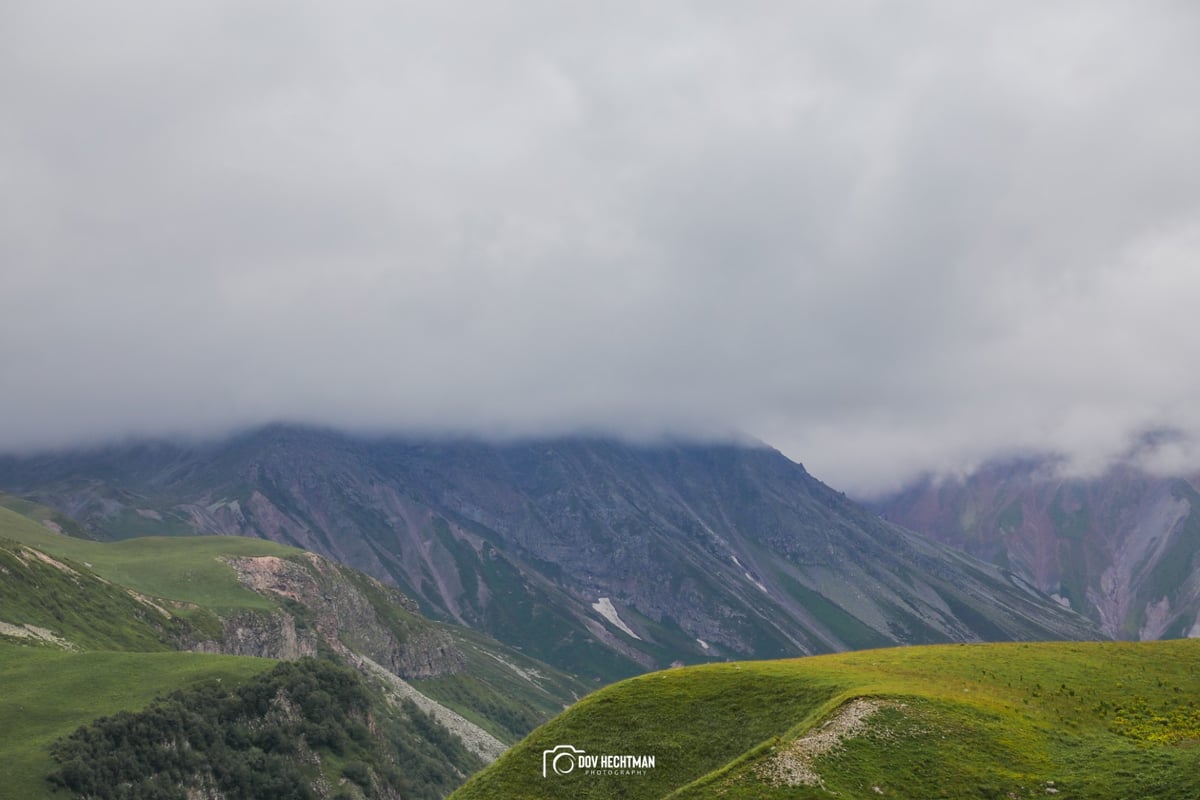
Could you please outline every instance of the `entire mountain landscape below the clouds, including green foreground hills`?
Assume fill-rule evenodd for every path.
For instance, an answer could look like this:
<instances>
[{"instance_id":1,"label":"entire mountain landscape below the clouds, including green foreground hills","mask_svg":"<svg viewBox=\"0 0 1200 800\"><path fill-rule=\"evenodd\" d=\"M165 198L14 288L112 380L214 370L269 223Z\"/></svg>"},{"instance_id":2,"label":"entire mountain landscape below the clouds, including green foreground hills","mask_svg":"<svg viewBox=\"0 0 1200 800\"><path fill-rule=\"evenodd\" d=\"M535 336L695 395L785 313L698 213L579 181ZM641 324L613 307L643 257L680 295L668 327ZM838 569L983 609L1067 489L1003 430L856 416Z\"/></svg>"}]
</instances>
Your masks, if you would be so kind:
<instances>
[{"instance_id":1,"label":"entire mountain landscape below the clouds, including green foreground hills","mask_svg":"<svg viewBox=\"0 0 1200 800\"><path fill-rule=\"evenodd\" d=\"M284 425L5 456L0 757L19 796L1192 796L1193 643L1076 642L1200 630L1195 486L859 504L760 444Z\"/></svg>"}]
</instances>

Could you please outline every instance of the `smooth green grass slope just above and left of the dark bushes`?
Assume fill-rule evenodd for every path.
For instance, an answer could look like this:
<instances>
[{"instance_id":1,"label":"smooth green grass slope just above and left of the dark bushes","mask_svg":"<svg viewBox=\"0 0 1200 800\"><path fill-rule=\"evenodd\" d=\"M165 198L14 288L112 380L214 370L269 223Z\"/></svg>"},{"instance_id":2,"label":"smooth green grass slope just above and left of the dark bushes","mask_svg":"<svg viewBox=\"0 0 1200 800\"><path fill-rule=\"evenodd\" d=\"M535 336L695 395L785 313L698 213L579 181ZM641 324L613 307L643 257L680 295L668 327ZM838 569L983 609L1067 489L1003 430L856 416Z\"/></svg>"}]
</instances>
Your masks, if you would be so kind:
<instances>
[{"instance_id":1,"label":"smooth green grass slope just above and left of the dark bushes","mask_svg":"<svg viewBox=\"0 0 1200 800\"><path fill-rule=\"evenodd\" d=\"M0 798L49 796L46 747L91 720L202 680L242 681L276 662L194 652L62 652L0 643Z\"/></svg>"}]
</instances>

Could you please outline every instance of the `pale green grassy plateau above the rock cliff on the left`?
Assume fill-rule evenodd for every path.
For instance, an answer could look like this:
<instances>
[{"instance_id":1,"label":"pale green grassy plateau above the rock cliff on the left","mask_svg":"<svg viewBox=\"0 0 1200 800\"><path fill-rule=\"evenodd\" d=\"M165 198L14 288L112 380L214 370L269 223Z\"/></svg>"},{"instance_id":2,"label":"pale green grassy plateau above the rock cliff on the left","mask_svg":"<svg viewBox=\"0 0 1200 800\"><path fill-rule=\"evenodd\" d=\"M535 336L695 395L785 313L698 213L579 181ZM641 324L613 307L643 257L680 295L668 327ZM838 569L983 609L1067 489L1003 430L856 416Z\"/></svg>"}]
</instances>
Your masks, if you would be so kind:
<instances>
[{"instance_id":1,"label":"pale green grassy plateau above the rock cliff on the left","mask_svg":"<svg viewBox=\"0 0 1200 800\"><path fill-rule=\"evenodd\" d=\"M64 536L0 509L0 536L59 558L88 565L96 575L152 597L215 610L274 608L275 603L238 583L221 557L296 555L301 551L238 536L146 537L92 542Z\"/></svg>"}]
</instances>

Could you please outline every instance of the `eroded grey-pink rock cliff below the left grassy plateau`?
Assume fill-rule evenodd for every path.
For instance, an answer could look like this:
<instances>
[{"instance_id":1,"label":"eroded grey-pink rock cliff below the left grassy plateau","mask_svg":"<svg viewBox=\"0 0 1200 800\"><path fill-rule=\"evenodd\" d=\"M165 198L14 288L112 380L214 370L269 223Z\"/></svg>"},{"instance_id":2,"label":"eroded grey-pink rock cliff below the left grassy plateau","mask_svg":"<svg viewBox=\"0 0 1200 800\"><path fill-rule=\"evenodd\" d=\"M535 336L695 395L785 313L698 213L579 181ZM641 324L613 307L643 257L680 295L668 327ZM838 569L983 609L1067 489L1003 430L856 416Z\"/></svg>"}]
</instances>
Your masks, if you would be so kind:
<instances>
[{"instance_id":1,"label":"eroded grey-pink rock cliff below the left grassy plateau","mask_svg":"<svg viewBox=\"0 0 1200 800\"><path fill-rule=\"evenodd\" d=\"M358 652L401 678L434 678L462 672L462 652L450 637L416 616L400 591L352 577L325 559L274 555L229 559L247 589L283 599L286 609L240 610L222 619L221 640L187 643L187 649L268 658L316 655L324 642L338 652Z\"/></svg>"}]
</instances>

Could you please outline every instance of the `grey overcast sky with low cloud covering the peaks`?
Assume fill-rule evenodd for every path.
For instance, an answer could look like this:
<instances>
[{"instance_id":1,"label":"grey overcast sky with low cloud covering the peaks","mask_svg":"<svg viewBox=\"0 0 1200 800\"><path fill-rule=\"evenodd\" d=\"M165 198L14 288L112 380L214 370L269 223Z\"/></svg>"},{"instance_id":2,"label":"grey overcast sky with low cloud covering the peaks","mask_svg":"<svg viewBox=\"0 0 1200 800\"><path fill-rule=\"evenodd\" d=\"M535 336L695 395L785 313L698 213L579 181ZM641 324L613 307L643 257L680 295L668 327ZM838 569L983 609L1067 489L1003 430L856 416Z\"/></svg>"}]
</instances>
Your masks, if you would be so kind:
<instances>
[{"instance_id":1,"label":"grey overcast sky with low cloud covering the peaks","mask_svg":"<svg viewBox=\"0 0 1200 800\"><path fill-rule=\"evenodd\" d=\"M1200 5L0 6L0 449L1200 463Z\"/></svg>"}]
</instances>

